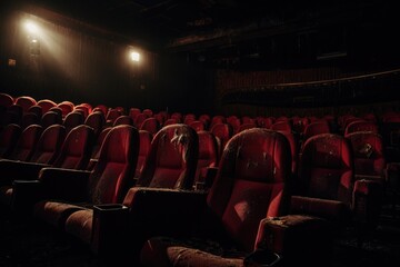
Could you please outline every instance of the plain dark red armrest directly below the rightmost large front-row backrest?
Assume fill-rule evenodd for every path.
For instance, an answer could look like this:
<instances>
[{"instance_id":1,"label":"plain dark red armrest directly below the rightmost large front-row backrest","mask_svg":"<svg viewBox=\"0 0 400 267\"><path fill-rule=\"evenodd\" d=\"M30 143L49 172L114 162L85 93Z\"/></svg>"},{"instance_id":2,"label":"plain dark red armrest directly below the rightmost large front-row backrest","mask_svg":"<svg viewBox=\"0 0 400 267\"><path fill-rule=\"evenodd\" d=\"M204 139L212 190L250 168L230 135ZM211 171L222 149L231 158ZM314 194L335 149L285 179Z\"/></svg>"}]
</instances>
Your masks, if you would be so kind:
<instances>
[{"instance_id":1,"label":"plain dark red armrest directly below the rightmost large front-row backrest","mask_svg":"<svg viewBox=\"0 0 400 267\"><path fill-rule=\"evenodd\" d=\"M290 214L311 215L340 222L349 216L350 207L342 201L292 196Z\"/></svg>"}]
</instances>

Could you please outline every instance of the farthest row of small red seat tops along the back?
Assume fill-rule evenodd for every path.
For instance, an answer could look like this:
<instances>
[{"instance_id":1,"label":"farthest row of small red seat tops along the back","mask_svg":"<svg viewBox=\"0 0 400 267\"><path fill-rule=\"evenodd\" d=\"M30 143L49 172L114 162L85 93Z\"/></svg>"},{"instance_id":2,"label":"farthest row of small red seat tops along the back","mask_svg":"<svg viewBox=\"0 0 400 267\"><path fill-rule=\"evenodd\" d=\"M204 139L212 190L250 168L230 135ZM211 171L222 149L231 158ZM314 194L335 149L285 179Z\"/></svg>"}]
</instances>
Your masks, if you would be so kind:
<instances>
[{"instance_id":1,"label":"farthest row of small red seat tops along the back","mask_svg":"<svg viewBox=\"0 0 400 267\"><path fill-rule=\"evenodd\" d=\"M387 111L384 112L381 118L378 118L374 113L366 113L363 116L354 116L354 115L342 115L338 118L334 118L333 116L323 116L321 118L314 117L314 116L306 116L306 117L287 117L281 116L278 118L274 117L249 117L249 116L242 116L241 118L237 116L210 116L207 113L200 115L197 117L194 113L187 113L182 115L180 112L172 112L168 113L167 111L160 111L160 112L153 112L151 109L143 109L140 110L139 108L130 108L128 112L126 112L124 108L122 107L116 107L116 108L108 108L104 105L98 105L96 107L92 107L90 103L79 103L74 105L70 101L62 101L60 103L56 103L50 99L42 99L42 100L34 100L32 97L29 96L21 96L13 98L7 93L0 93L0 107L8 108L9 106L17 105L21 108L21 111L23 113L26 112L33 112L37 113L39 117L42 116L44 112L49 111L49 109L58 107L61 109L62 118L64 118L69 112L71 111L80 111L83 113L84 119L89 113L92 111L102 111L106 116L107 121L112 123L118 117L120 116L129 116L133 120L133 125L136 127L140 127L140 123L150 117L154 117L160 126L169 125L169 123L187 123L190 125L191 122L200 121L204 123L206 130L210 130L211 127L214 123L230 123L233 127L233 132L237 134L238 130L240 130L240 127L248 127L247 125L253 125L261 128L271 128L271 126L276 122L280 121L288 121L290 122L292 130L297 134L303 132L304 127L308 123L314 122L314 121L327 121L331 127L333 125L337 125L339 127L338 130L341 130L343 132L346 126L353 121L353 120L366 120L371 122L398 122L399 121L399 112L396 111ZM30 110L31 109L31 110ZM16 110L13 110L16 111ZM16 111L21 112L21 111ZM337 129L331 129L333 132Z\"/></svg>"}]
</instances>

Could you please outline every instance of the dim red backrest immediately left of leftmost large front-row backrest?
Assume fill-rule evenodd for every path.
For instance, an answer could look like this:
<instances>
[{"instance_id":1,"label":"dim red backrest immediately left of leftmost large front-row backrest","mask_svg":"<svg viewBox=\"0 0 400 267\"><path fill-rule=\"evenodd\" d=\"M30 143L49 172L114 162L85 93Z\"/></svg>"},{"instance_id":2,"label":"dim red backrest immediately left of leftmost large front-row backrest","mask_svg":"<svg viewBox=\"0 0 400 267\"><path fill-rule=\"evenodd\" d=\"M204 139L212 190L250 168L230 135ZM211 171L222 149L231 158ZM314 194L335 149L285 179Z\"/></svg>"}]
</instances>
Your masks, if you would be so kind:
<instances>
[{"instance_id":1,"label":"dim red backrest immediately left of leftmost large front-row backrest","mask_svg":"<svg viewBox=\"0 0 400 267\"><path fill-rule=\"evenodd\" d=\"M57 157L52 167L87 169L94 141L94 130L91 127L80 125L72 128L67 132L67 137L61 146L60 155Z\"/></svg>"}]
</instances>

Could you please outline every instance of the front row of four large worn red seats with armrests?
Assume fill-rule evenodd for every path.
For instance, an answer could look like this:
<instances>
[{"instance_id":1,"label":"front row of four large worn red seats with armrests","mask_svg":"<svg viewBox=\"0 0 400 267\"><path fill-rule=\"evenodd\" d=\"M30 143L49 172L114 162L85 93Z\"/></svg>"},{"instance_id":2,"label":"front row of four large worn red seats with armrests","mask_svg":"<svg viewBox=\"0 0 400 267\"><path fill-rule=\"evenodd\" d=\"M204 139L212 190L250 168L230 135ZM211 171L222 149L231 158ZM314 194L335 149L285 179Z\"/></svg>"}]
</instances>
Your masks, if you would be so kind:
<instances>
[{"instance_id":1,"label":"front row of four large worn red seats with armrests","mask_svg":"<svg viewBox=\"0 0 400 267\"><path fill-rule=\"evenodd\" d=\"M146 266L240 265L257 261L257 254L318 266L330 251L331 226L356 222L366 230L377 224L379 199L369 192L380 192L379 184L356 179L342 136L310 138L294 177L283 134L239 132L224 147L208 191L193 190L199 132L183 123L163 127L136 180L139 139L132 126L112 127L92 171L42 168L32 181L14 180L12 208L77 237L99 256L118 260L128 249L128 259ZM201 238L212 238L214 246L203 250ZM293 249L299 243L301 253Z\"/></svg>"}]
</instances>

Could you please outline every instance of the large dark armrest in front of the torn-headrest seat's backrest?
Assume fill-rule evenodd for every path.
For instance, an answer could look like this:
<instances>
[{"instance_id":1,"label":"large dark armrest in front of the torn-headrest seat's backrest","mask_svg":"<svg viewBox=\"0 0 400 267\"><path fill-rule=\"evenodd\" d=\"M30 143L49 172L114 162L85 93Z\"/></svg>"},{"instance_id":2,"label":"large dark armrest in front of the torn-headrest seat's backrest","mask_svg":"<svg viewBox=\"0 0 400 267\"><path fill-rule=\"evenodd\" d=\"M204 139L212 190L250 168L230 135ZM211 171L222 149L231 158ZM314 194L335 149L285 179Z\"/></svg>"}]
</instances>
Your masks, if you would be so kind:
<instances>
[{"instance_id":1,"label":"large dark armrest in front of the torn-headrest seat's backrest","mask_svg":"<svg viewBox=\"0 0 400 267\"><path fill-rule=\"evenodd\" d=\"M133 187L123 205L129 207L130 227L142 236L188 235L206 207L206 197L203 191Z\"/></svg>"}]
</instances>

